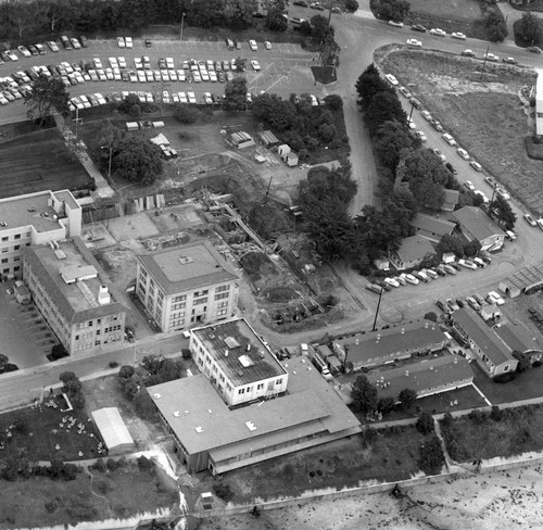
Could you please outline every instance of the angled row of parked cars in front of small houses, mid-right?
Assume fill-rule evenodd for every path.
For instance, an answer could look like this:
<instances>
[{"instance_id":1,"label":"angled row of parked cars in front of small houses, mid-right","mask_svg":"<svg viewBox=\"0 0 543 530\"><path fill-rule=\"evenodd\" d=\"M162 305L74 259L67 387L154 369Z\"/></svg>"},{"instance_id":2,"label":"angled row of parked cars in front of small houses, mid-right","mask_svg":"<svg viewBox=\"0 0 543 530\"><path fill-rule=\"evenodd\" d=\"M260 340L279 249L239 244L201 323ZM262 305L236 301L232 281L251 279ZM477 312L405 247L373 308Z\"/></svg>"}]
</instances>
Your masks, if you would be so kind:
<instances>
[{"instance_id":1,"label":"angled row of parked cars in front of small houses, mid-right","mask_svg":"<svg viewBox=\"0 0 543 530\"><path fill-rule=\"evenodd\" d=\"M411 283L412 286L417 286L420 281L429 283L430 281L438 279L440 276L456 276L463 268L467 268L469 270L484 268L489 265L489 263L491 263L491 261L492 258L490 256L481 255L472 257L471 260L458 260L458 262L454 263L441 263L437 267L422 268L421 270L415 270L411 274L402 273L399 276L391 276L383 278L382 280L375 280L372 283L367 283L366 289L380 294L383 290L391 291L394 288L406 286L407 283Z\"/></svg>"}]
</instances>

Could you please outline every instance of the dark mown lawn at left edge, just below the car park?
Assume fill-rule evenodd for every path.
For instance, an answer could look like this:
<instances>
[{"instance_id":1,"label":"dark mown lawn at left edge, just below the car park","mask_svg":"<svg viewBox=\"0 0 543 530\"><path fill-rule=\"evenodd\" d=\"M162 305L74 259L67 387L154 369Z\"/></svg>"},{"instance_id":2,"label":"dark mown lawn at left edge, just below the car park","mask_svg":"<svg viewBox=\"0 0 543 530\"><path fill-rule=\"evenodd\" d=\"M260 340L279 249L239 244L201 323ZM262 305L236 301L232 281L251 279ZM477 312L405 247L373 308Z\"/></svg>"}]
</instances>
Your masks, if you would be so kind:
<instances>
[{"instance_id":1,"label":"dark mown lawn at left edge, just below the car park","mask_svg":"<svg viewBox=\"0 0 543 530\"><path fill-rule=\"evenodd\" d=\"M0 143L0 198L75 190L89 180L56 129L29 132Z\"/></svg>"}]
</instances>

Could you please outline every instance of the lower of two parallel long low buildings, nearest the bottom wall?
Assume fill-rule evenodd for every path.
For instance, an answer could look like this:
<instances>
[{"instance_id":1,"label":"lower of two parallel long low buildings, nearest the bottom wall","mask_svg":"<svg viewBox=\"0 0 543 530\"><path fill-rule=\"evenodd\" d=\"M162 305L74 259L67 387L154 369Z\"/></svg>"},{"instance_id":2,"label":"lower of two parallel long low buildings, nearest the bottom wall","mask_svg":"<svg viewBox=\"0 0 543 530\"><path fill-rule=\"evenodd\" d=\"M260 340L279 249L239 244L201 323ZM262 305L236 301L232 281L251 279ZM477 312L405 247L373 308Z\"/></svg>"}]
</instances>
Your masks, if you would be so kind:
<instances>
[{"instance_id":1,"label":"lower of two parallel long low buildings, nearest the bottom wall","mask_svg":"<svg viewBox=\"0 0 543 530\"><path fill-rule=\"evenodd\" d=\"M368 380L377 387L379 398L397 400L404 389L414 390L417 398L426 398L471 384L473 371L466 358L443 355L401 368L375 371Z\"/></svg>"}]
</instances>

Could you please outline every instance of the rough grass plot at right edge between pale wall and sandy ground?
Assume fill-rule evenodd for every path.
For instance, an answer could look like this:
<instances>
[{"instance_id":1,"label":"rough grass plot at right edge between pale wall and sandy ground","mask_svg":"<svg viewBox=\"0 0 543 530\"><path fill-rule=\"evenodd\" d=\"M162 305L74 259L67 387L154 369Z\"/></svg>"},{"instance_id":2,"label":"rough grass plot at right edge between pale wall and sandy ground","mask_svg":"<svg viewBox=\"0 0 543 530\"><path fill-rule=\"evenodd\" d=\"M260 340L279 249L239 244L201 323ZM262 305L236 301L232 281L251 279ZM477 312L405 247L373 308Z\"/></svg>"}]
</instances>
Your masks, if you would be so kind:
<instances>
[{"instance_id":1,"label":"rough grass plot at right edge between pale wall and sandy ground","mask_svg":"<svg viewBox=\"0 0 543 530\"><path fill-rule=\"evenodd\" d=\"M543 449L543 407L503 411L501 421L484 415L482 421L469 417L453 419L450 427L442 425L451 457L456 462L512 456Z\"/></svg>"}]
</instances>

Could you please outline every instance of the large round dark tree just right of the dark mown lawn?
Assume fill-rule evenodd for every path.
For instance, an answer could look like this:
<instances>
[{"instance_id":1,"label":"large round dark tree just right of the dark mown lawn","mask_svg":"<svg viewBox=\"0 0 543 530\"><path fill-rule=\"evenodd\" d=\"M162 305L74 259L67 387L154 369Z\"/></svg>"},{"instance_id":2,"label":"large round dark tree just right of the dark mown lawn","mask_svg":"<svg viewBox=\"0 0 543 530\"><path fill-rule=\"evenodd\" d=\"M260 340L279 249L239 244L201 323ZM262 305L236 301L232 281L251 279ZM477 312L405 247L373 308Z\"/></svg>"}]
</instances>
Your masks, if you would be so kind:
<instances>
[{"instance_id":1,"label":"large round dark tree just right of the dark mown lawn","mask_svg":"<svg viewBox=\"0 0 543 530\"><path fill-rule=\"evenodd\" d=\"M112 166L116 176L148 186L162 173L162 152L147 138L125 138L116 144Z\"/></svg>"}]
</instances>

